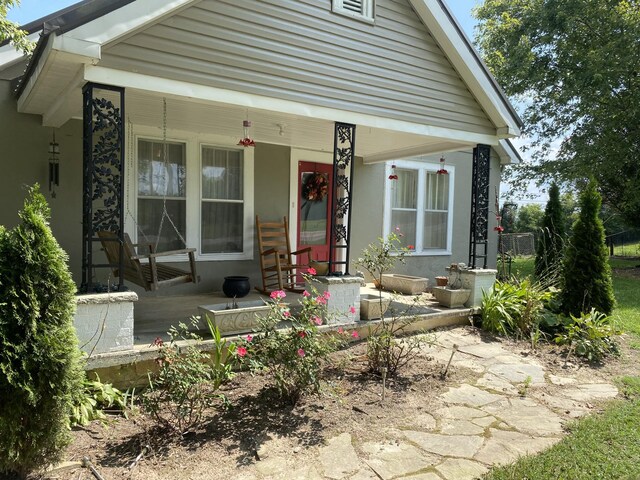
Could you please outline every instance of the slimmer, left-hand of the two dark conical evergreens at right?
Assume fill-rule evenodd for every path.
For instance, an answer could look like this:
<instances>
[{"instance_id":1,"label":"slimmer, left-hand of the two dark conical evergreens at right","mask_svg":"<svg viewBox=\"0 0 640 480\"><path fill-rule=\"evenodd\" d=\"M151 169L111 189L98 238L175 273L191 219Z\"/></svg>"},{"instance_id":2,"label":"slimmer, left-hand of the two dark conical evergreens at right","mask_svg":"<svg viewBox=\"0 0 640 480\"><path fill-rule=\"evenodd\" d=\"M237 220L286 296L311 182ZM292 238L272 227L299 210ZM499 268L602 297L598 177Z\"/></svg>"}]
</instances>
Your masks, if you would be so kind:
<instances>
[{"instance_id":1,"label":"slimmer, left-hand of the two dark conical evergreens at right","mask_svg":"<svg viewBox=\"0 0 640 480\"><path fill-rule=\"evenodd\" d=\"M559 271L564 246L564 222L560 189L556 183L552 183L536 250L535 272L539 279L547 277L553 280Z\"/></svg>"}]
</instances>

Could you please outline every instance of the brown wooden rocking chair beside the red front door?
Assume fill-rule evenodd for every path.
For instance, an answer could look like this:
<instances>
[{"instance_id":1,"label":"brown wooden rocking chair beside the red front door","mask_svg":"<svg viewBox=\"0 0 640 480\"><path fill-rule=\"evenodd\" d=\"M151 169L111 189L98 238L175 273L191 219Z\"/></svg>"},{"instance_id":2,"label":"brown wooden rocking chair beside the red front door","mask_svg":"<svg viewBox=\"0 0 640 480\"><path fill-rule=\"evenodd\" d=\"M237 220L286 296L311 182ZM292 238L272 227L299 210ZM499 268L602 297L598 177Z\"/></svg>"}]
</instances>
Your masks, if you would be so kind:
<instances>
[{"instance_id":1,"label":"brown wooden rocking chair beside the red front door","mask_svg":"<svg viewBox=\"0 0 640 480\"><path fill-rule=\"evenodd\" d=\"M262 288L256 287L256 290L265 295L274 290L285 289L302 292L304 285L298 284L296 270L306 270L309 266L311 247L291 251L287 217L284 217L282 222L260 222L260 218L256 215L256 232L262 270ZM294 255L305 254L306 263L300 261L294 263ZM299 257L296 260L299 260Z\"/></svg>"}]
</instances>

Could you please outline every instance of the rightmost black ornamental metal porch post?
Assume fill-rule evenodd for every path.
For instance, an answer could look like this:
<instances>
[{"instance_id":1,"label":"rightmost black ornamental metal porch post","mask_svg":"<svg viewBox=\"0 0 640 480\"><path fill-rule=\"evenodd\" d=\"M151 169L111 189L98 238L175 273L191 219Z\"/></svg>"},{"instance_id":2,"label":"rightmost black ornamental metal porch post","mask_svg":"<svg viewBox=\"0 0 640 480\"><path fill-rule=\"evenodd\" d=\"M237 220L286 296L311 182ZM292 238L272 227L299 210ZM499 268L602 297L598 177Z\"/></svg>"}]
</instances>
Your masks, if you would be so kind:
<instances>
[{"instance_id":1,"label":"rightmost black ornamental metal porch post","mask_svg":"<svg viewBox=\"0 0 640 480\"><path fill-rule=\"evenodd\" d=\"M473 149L473 174L471 184L471 229L469 238L469 265L487 268L489 239L489 172L491 147L478 145Z\"/></svg>"}]
</instances>

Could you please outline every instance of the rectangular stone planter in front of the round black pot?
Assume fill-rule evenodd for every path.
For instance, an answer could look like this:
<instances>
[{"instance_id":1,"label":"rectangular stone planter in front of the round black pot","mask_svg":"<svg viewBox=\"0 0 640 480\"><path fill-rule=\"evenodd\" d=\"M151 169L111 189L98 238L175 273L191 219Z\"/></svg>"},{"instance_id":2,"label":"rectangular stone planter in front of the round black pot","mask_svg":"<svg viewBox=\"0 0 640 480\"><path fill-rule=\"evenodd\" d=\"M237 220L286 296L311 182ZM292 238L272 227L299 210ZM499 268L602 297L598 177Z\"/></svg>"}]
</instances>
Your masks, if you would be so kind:
<instances>
[{"instance_id":1,"label":"rectangular stone planter in front of the round black pot","mask_svg":"<svg viewBox=\"0 0 640 480\"><path fill-rule=\"evenodd\" d=\"M238 308L227 308L226 304L200 305L198 311L202 317L201 324L206 325L209 317L218 327L221 335L249 333L258 328L258 317L269 313L269 305L262 300L238 302Z\"/></svg>"}]
</instances>

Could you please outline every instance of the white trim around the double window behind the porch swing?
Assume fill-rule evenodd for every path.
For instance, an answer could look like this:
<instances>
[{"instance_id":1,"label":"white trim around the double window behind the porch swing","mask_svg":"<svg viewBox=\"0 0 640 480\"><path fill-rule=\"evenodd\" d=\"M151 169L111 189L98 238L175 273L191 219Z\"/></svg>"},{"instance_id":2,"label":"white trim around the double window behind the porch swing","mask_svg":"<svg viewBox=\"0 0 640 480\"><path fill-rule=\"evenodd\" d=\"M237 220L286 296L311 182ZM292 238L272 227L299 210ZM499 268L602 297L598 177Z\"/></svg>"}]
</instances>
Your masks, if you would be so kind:
<instances>
[{"instance_id":1,"label":"white trim around the double window behind the porch swing","mask_svg":"<svg viewBox=\"0 0 640 480\"><path fill-rule=\"evenodd\" d=\"M158 127L134 125L133 135L127 135L126 151L133 152L130 157L127 154L125 162L125 231L129 233L134 243L143 240L138 238L138 140L148 139L162 142L162 135ZM133 141L133 145L130 142ZM185 240L187 247L196 247L196 260L198 261L235 261L253 260L254 246L254 149L243 150L244 178L244 239L243 251L237 253L206 253L202 252L202 146L220 147L225 149L239 149L237 138L222 135L199 134L182 130L167 129L167 141L185 144L185 161L187 165L187 231ZM165 262L184 262L184 255L167 256L162 258Z\"/></svg>"}]
</instances>

